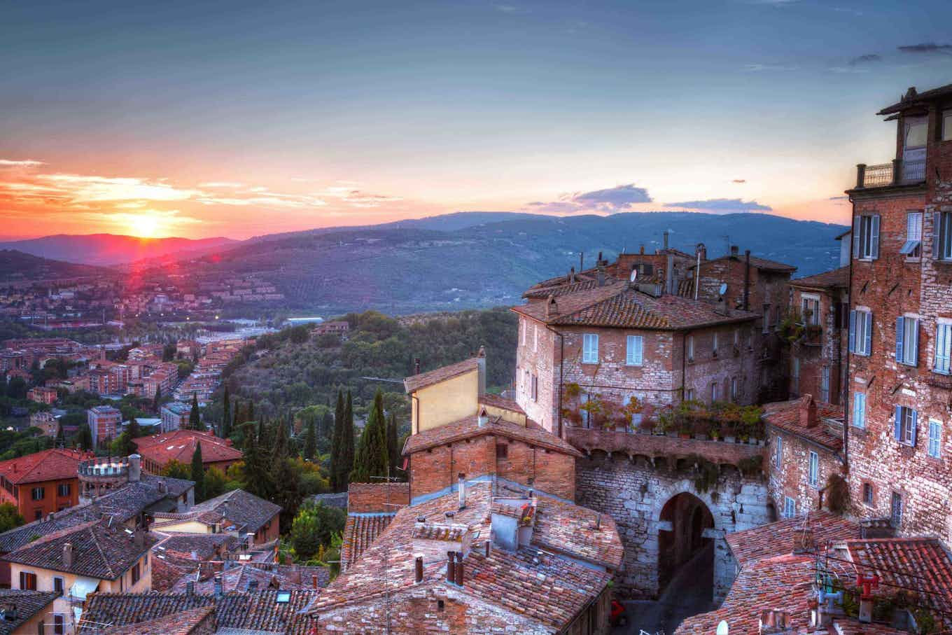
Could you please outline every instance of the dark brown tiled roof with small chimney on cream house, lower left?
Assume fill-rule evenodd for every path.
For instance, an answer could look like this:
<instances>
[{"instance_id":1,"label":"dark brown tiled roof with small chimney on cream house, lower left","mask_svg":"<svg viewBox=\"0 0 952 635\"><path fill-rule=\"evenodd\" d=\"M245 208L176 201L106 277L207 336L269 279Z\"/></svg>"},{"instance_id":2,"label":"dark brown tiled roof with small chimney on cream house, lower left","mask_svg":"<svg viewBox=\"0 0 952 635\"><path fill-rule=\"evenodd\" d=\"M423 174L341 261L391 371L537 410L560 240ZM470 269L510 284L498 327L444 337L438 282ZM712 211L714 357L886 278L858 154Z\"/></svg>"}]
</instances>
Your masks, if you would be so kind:
<instances>
[{"instance_id":1,"label":"dark brown tiled roof with small chimney on cream house, lower left","mask_svg":"<svg viewBox=\"0 0 952 635\"><path fill-rule=\"evenodd\" d=\"M4 560L100 580L115 580L157 542L156 536L148 534L143 537L142 546L137 546L132 533L125 527L92 522L43 536L7 554ZM73 546L71 565L64 561L63 551L67 544Z\"/></svg>"}]
</instances>

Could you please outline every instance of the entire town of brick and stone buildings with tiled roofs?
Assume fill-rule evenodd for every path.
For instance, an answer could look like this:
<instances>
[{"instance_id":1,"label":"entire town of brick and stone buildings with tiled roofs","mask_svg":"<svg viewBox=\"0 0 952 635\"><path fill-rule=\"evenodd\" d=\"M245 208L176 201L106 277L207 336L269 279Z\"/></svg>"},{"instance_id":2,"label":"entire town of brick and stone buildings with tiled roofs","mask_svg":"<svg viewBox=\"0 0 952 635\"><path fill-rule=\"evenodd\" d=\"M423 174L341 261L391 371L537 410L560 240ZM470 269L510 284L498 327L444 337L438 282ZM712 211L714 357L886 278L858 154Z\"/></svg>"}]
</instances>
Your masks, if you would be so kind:
<instances>
[{"instance_id":1,"label":"entire town of brick and stone buildings with tiled roofs","mask_svg":"<svg viewBox=\"0 0 952 635\"><path fill-rule=\"evenodd\" d=\"M0 629L952 632L952 85L878 114L896 155L844 184L836 267L639 236L526 288L514 346L308 367L309 407L232 372L402 357L398 327L457 318L108 350L37 313L0 343L3 414L29 422L0 435ZM112 308L109 284L3 302ZM123 310L283 299L188 285Z\"/></svg>"}]
</instances>

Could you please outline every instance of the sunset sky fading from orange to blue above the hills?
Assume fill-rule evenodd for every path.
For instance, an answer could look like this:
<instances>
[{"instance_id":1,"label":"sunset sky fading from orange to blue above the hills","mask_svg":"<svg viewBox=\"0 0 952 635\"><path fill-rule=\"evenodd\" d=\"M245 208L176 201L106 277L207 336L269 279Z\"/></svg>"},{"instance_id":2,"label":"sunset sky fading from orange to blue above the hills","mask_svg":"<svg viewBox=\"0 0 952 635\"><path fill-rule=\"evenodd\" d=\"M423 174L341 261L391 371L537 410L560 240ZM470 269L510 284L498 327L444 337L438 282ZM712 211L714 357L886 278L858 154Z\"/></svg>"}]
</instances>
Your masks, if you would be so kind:
<instances>
[{"instance_id":1,"label":"sunset sky fading from orange to blue above the hills","mask_svg":"<svg viewBox=\"0 0 952 635\"><path fill-rule=\"evenodd\" d=\"M0 0L0 238L466 210L843 222L948 0Z\"/></svg>"}]
</instances>

